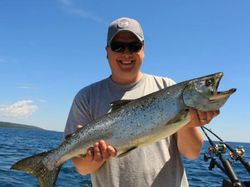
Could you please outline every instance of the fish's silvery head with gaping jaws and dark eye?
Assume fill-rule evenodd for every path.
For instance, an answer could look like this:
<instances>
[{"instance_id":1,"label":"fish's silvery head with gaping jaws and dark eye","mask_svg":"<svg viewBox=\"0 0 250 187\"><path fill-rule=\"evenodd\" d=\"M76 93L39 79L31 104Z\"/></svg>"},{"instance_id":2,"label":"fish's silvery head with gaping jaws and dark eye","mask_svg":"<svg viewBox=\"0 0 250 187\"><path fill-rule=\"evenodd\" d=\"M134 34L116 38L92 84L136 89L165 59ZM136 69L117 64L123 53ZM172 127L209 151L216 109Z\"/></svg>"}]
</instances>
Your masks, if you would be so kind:
<instances>
[{"instance_id":1,"label":"fish's silvery head with gaping jaws and dark eye","mask_svg":"<svg viewBox=\"0 0 250 187\"><path fill-rule=\"evenodd\" d=\"M222 72L196 78L187 82L183 90L183 101L188 107L201 111L219 110L236 89L218 91Z\"/></svg>"}]
</instances>

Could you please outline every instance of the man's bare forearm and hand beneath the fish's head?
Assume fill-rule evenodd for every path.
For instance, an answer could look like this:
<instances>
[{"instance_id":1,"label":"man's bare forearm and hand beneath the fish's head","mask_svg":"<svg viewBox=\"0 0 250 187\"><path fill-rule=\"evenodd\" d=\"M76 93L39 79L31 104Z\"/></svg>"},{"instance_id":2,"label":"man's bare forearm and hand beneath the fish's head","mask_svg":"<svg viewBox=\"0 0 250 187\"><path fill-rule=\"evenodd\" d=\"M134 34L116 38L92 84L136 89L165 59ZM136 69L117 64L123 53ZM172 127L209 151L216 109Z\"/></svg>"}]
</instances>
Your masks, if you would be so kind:
<instances>
[{"instance_id":1,"label":"man's bare forearm and hand beneath the fish's head","mask_svg":"<svg viewBox=\"0 0 250 187\"><path fill-rule=\"evenodd\" d=\"M190 160L196 159L203 144L200 126L208 124L219 111L201 112L190 108L190 122L177 132L177 146L182 155Z\"/></svg>"}]
</instances>

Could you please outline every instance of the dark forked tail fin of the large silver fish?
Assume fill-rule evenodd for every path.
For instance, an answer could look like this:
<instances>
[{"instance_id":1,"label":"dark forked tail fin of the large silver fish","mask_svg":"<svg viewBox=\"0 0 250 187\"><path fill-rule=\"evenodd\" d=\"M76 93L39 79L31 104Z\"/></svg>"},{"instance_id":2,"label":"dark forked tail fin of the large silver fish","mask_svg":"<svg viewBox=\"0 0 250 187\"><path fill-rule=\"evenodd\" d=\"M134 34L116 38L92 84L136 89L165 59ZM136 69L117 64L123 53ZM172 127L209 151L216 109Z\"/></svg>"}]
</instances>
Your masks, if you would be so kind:
<instances>
[{"instance_id":1,"label":"dark forked tail fin of the large silver fish","mask_svg":"<svg viewBox=\"0 0 250 187\"><path fill-rule=\"evenodd\" d=\"M43 152L23 160L20 160L11 166L11 169L23 170L38 178L41 187L54 187L61 166L54 170L48 170L42 160L50 152Z\"/></svg>"}]
</instances>

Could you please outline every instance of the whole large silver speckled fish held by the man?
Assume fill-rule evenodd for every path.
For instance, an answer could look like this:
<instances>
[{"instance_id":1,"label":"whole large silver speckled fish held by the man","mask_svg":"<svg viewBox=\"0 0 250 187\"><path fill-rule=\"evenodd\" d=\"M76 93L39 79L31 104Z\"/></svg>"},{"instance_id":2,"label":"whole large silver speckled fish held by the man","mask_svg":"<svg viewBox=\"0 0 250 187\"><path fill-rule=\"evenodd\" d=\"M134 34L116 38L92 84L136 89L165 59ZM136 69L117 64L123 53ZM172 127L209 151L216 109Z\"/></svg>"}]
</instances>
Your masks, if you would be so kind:
<instances>
[{"instance_id":1,"label":"whole large silver speckled fish held by the man","mask_svg":"<svg viewBox=\"0 0 250 187\"><path fill-rule=\"evenodd\" d=\"M189 121L189 108L219 110L236 89L218 92L223 73L216 73L154 92L126 104L114 104L110 113L86 124L59 147L15 163L39 178L41 186L54 186L62 164L86 152L100 139L106 140L122 155L177 132Z\"/></svg>"}]
</instances>

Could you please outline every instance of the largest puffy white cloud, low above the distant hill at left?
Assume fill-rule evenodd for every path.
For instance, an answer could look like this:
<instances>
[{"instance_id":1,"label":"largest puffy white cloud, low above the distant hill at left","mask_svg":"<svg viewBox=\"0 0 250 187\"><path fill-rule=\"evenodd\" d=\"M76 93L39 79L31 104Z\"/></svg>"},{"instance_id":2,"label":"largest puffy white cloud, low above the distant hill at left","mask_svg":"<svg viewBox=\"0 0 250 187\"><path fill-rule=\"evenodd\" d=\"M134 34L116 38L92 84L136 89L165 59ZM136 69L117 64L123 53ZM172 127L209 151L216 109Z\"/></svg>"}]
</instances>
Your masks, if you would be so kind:
<instances>
[{"instance_id":1,"label":"largest puffy white cloud, low above the distant hill at left","mask_svg":"<svg viewBox=\"0 0 250 187\"><path fill-rule=\"evenodd\" d=\"M30 117L36 110L38 110L38 106L34 105L33 101L21 100L8 106L0 105L0 116L27 118Z\"/></svg>"}]
</instances>

